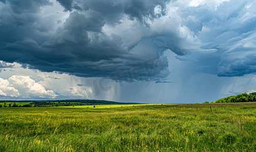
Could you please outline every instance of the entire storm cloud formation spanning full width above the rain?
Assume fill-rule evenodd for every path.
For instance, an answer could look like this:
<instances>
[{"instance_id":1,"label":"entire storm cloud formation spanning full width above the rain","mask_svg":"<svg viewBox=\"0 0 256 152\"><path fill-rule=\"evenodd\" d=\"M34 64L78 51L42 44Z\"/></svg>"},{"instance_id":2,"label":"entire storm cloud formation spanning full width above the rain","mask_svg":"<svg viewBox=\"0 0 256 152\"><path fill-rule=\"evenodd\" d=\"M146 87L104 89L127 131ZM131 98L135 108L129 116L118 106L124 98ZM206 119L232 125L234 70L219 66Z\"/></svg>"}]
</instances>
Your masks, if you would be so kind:
<instances>
[{"instance_id":1,"label":"entire storm cloud formation spanning full width above the rain","mask_svg":"<svg viewBox=\"0 0 256 152\"><path fill-rule=\"evenodd\" d=\"M256 70L255 3L2 0L0 60L79 77L115 75L110 79L116 80L121 69L129 75L127 69L159 57L162 68L143 80L134 78L159 83L167 82L164 53L172 51L191 62L194 72L242 76ZM52 11L57 5L67 18Z\"/></svg>"}]
</instances>

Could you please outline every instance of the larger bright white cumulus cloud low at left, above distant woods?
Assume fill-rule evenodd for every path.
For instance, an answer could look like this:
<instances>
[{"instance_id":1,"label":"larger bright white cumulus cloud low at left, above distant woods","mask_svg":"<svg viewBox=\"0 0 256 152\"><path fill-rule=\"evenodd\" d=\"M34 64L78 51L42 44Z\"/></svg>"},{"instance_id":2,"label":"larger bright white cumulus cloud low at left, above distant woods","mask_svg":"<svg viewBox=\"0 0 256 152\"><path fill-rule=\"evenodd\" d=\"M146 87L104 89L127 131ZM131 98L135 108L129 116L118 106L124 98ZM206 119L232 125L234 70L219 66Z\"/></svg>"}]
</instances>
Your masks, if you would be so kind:
<instances>
[{"instance_id":1,"label":"larger bright white cumulus cloud low at left, above distant woods","mask_svg":"<svg viewBox=\"0 0 256 152\"><path fill-rule=\"evenodd\" d=\"M45 88L32 80L29 76L13 75L9 78L10 86L18 89L22 95L34 96L41 98L52 98L56 95L52 90L45 90Z\"/></svg>"}]
</instances>

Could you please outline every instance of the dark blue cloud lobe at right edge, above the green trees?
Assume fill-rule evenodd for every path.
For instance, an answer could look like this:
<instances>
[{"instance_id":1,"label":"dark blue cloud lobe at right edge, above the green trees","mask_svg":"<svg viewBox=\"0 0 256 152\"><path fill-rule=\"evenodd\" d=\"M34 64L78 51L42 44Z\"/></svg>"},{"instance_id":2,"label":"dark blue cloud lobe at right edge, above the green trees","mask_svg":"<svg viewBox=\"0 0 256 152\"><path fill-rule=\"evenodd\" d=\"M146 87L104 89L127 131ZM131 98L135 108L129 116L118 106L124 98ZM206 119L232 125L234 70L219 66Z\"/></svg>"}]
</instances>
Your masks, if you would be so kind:
<instances>
[{"instance_id":1,"label":"dark blue cloud lobe at right edge, above the green trees","mask_svg":"<svg viewBox=\"0 0 256 152\"><path fill-rule=\"evenodd\" d=\"M218 76L234 77L256 73L256 32L249 31L225 42L219 48L225 51L217 65Z\"/></svg>"}]
</instances>

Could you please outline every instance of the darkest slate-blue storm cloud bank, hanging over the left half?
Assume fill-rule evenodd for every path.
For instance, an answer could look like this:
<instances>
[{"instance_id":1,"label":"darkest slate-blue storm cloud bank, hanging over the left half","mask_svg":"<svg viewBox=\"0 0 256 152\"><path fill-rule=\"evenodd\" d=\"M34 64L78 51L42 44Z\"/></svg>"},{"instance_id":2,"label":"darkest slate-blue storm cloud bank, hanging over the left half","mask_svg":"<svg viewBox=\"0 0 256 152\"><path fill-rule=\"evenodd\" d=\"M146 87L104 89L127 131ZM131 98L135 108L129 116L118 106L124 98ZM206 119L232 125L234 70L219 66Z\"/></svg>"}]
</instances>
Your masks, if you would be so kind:
<instances>
[{"instance_id":1,"label":"darkest slate-blue storm cloud bank, hanging over the left half","mask_svg":"<svg viewBox=\"0 0 256 152\"><path fill-rule=\"evenodd\" d=\"M33 35L32 32L26 32L40 29L40 25L37 23L40 22L40 19L35 11L21 7L20 13L22 10L26 10L31 11L34 15L12 14L11 17L15 18L14 20L8 18L4 20L6 24L1 24L1 29L5 34L0 36L3 40L1 53L4 55L0 58L8 62L18 62L23 68L28 67L46 72L67 72L79 77L110 77L122 68L126 69L133 64L150 59L149 56L138 58L137 55L129 53L128 49L121 46L123 42L120 35L112 33L109 37L102 33L102 27L106 22L112 24L113 22L110 22L110 20L115 21L115 18L117 18L116 21L118 21L125 14L124 7L121 4L111 4L105 1L104 3L101 2L103 4L96 4L92 1L78 6L73 5L72 1L58 2L68 11L71 11L72 7L76 7L76 9L79 9L79 6L87 8L86 5L89 5L89 3L91 3L90 7L94 7L88 8L89 15L87 16L78 12L71 13L63 26L56 30L56 34L48 37L48 41L45 41L47 40L44 39L46 37L40 35L40 33L39 35ZM135 2L131 4L133 5L133 3ZM150 4L158 3L152 2ZM132 7L132 5L129 7ZM143 8L147 9L145 3L141 3L141 5L144 5ZM13 7L12 4L6 4L6 7L8 6ZM108 7L114 7L114 9ZM18 21L16 18L19 18ZM14 23L12 26L7 24L10 21ZM60 20L57 22L61 23ZM49 28L40 30L42 32L50 31ZM89 32L91 33L90 37ZM35 33L38 34L38 32ZM151 56L151 58L153 57L155 56ZM168 66L166 63L164 64L165 69ZM159 70L154 72L152 73L152 79L159 75L157 73Z\"/></svg>"}]
</instances>

